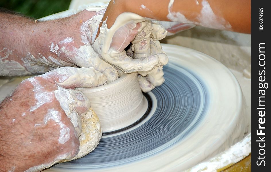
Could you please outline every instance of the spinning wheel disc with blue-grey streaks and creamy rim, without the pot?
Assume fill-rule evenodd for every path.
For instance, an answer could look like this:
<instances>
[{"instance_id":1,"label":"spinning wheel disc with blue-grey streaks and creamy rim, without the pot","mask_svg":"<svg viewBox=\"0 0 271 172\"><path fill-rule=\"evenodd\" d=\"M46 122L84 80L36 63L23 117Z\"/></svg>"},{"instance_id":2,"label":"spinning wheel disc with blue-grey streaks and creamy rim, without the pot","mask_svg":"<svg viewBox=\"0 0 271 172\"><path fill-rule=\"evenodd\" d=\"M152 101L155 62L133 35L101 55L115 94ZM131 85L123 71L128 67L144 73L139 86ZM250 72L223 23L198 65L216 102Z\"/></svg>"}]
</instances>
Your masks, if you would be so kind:
<instances>
[{"instance_id":1,"label":"spinning wheel disc with blue-grey streaks and creamy rim, without the pot","mask_svg":"<svg viewBox=\"0 0 271 172\"><path fill-rule=\"evenodd\" d=\"M180 46L162 46L169 64L164 67L165 83L149 93L153 104L157 101L153 114L127 132L103 136L98 147L85 157L57 164L49 171L184 170L207 154L222 151L242 117L239 83L229 69L206 54ZM216 107L218 101L224 104ZM156 114L157 110L163 115ZM151 127L146 129L148 125ZM242 135L245 129L239 130ZM238 138L242 137L235 139ZM230 146L233 142L226 144Z\"/></svg>"}]
</instances>

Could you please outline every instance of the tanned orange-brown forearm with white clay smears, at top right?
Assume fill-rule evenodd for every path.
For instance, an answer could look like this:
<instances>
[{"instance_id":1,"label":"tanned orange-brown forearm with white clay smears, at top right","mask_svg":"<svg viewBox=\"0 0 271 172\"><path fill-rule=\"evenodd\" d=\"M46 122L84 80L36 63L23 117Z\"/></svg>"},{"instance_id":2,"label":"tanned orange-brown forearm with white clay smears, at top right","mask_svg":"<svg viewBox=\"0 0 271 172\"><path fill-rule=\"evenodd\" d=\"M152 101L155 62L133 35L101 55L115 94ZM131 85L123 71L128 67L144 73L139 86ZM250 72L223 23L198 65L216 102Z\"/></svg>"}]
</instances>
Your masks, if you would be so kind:
<instances>
[{"instance_id":1,"label":"tanned orange-brown forearm with white clay smears, at top right","mask_svg":"<svg viewBox=\"0 0 271 172\"><path fill-rule=\"evenodd\" d=\"M110 28L119 14L132 12L161 21L250 33L250 10L249 0L115 0L110 1L103 20L108 17L107 25Z\"/></svg>"}]
</instances>

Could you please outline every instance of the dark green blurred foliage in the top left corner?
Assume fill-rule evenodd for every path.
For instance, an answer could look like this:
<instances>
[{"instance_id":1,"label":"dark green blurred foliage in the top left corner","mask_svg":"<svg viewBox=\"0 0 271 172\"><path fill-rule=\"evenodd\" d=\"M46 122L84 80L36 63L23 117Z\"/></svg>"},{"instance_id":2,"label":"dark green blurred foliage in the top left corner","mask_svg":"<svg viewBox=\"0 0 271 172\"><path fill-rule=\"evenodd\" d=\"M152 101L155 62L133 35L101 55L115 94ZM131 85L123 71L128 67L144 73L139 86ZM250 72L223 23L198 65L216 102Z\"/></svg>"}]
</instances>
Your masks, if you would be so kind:
<instances>
[{"instance_id":1,"label":"dark green blurred foliage in the top left corner","mask_svg":"<svg viewBox=\"0 0 271 172\"><path fill-rule=\"evenodd\" d=\"M0 0L0 7L38 19L65 11L71 0Z\"/></svg>"}]
</instances>

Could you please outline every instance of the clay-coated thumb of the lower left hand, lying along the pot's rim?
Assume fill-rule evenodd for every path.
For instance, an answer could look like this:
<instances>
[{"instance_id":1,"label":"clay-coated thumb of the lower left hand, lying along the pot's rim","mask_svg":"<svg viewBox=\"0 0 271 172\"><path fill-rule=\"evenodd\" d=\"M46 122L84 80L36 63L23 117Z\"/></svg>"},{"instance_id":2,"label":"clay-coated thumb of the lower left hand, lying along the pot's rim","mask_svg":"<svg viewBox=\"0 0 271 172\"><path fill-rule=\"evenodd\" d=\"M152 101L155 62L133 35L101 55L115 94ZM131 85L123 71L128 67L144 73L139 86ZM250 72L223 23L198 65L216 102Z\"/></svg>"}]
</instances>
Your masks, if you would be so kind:
<instances>
[{"instance_id":1,"label":"clay-coated thumb of the lower left hand, lying along the pot's rim","mask_svg":"<svg viewBox=\"0 0 271 172\"><path fill-rule=\"evenodd\" d=\"M106 83L104 74L94 68L61 67L47 72L40 77L63 88L96 87Z\"/></svg>"}]
</instances>

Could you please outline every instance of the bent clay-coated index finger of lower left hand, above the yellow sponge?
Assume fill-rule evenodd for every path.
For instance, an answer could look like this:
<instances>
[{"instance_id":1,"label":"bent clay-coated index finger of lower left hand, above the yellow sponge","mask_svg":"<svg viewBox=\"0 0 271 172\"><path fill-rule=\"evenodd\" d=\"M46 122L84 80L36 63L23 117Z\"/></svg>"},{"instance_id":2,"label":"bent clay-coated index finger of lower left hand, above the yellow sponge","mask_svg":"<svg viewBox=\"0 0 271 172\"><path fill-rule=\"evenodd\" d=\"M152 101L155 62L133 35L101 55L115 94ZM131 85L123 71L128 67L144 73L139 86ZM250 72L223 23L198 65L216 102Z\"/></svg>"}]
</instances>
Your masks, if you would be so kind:
<instances>
[{"instance_id":1,"label":"bent clay-coated index finger of lower left hand, above the yellow sponge","mask_svg":"<svg viewBox=\"0 0 271 172\"><path fill-rule=\"evenodd\" d=\"M57 87L54 91L61 108L75 128L75 135L79 137L82 132L81 119L90 108L90 101L81 91Z\"/></svg>"}]
</instances>

